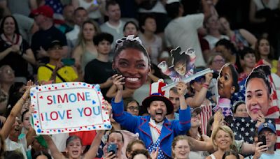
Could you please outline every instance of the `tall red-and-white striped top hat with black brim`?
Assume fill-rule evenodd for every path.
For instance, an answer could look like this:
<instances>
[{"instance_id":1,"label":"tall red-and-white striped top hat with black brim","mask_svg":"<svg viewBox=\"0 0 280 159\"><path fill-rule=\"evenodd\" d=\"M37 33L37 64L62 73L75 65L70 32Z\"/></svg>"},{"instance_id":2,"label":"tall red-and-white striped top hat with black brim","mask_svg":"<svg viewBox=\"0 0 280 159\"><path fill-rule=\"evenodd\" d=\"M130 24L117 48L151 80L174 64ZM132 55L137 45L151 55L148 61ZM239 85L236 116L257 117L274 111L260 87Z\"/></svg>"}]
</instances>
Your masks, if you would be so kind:
<instances>
[{"instance_id":1,"label":"tall red-and-white striped top hat with black brim","mask_svg":"<svg viewBox=\"0 0 280 159\"><path fill-rule=\"evenodd\" d=\"M174 109L173 104L165 97L165 91L162 91L162 87L165 85L167 84L163 82L163 79L159 79L158 82L150 84L150 96L143 100L142 106L148 108L153 101L159 100L165 103L167 107L167 115L172 114Z\"/></svg>"}]
</instances>

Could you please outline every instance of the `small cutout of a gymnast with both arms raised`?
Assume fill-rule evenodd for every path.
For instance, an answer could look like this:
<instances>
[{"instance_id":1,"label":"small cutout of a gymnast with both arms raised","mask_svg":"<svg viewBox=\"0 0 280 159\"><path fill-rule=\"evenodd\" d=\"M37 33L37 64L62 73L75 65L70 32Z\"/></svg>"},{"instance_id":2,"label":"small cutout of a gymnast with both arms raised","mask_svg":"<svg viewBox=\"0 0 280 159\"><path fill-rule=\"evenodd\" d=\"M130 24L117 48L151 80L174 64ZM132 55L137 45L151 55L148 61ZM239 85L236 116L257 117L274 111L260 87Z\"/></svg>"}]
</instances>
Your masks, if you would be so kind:
<instances>
[{"instance_id":1,"label":"small cutout of a gymnast with both arms raised","mask_svg":"<svg viewBox=\"0 0 280 159\"><path fill-rule=\"evenodd\" d=\"M181 47L177 47L176 49L171 50L171 54L173 57L171 67L168 68L166 61L162 61L158 64L162 73L168 75L174 82L193 75L196 58L195 50L193 48L190 47L186 52L181 52Z\"/></svg>"}]
</instances>

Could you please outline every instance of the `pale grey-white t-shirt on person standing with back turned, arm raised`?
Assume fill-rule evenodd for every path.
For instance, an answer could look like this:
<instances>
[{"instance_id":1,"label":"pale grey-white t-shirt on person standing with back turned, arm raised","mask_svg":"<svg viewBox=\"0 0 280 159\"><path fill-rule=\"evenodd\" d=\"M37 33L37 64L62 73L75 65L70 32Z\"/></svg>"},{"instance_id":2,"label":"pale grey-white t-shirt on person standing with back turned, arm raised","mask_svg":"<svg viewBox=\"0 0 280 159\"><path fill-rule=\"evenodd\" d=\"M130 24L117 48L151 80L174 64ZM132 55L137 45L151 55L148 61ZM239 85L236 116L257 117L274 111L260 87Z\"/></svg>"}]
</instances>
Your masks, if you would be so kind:
<instances>
[{"instance_id":1,"label":"pale grey-white t-shirt on person standing with back turned, arm raised","mask_svg":"<svg viewBox=\"0 0 280 159\"><path fill-rule=\"evenodd\" d=\"M165 40L167 47L175 49L180 46L182 51L193 47L195 49L195 66L206 66L203 59L200 40L198 39L197 29L202 27L204 14L186 15L178 17L165 28Z\"/></svg>"}]
</instances>

